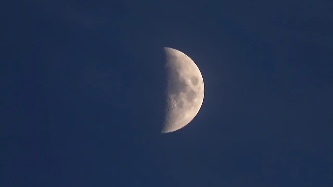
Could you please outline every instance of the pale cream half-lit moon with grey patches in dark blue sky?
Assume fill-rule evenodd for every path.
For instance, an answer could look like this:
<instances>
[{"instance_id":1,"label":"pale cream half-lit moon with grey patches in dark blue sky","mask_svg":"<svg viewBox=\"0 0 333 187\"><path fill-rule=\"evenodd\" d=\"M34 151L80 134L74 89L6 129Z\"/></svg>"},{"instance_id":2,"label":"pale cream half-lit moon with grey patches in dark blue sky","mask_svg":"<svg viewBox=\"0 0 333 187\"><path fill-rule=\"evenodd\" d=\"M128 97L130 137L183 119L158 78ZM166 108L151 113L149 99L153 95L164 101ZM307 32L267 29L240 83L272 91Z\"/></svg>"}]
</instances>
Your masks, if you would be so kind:
<instances>
[{"instance_id":1,"label":"pale cream half-lit moon with grey patches in dark blue sky","mask_svg":"<svg viewBox=\"0 0 333 187\"><path fill-rule=\"evenodd\" d=\"M186 126L199 112L204 95L199 68L184 53L165 47L167 89L166 112L161 133Z\"/></svg>"}]
</instances>

